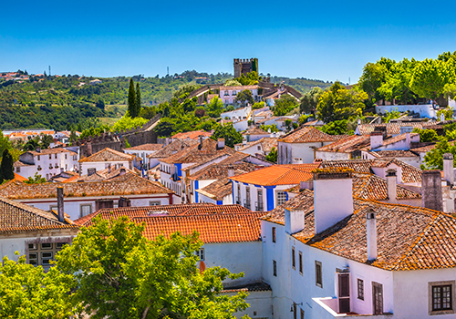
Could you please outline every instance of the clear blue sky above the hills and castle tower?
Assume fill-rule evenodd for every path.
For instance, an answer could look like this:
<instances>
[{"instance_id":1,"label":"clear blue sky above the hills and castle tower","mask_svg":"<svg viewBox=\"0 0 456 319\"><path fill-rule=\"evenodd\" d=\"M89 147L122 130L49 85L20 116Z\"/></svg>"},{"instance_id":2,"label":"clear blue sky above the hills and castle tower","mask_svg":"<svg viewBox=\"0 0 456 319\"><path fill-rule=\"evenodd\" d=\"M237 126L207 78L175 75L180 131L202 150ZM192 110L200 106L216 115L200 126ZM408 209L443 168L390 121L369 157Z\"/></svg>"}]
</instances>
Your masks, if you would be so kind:
<instances>
[{"instance_id":1,"label":"clear blue sky above the hills and castle tower","mask_svg":"<svg viewBox=\"0 0 456 319\"><path fill-rule=\"evenodd\" d=\"M260 73L356 83L380 57L456 50L454 1L24 0L1 7L2 72L233 74L233 58L258 57Z\"/></svg>"}]
</instances>

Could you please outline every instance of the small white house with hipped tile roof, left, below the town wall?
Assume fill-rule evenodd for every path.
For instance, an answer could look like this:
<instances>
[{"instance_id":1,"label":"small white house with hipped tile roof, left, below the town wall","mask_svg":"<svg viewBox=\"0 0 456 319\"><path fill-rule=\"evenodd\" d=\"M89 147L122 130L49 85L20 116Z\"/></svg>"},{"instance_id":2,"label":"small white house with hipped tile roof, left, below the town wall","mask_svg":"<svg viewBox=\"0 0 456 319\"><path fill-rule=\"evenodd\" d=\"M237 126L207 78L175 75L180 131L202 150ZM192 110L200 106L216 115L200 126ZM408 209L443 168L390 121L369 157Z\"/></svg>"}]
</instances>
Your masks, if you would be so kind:
<instances>
[{"instance_id":1,"label":"small white house with hipped tile roof, left, below the town wall","mask_svg":"<svg viewBox=\"0 0 456 319\"><path fill-rule=\"evenodd\" d=\"M97 170L105 170L109 167L117 170L119 167L125 167L132 170L136 165L136 157L132 154L125 154L114 149L101 149L87 158L79 160L80 174L90 175Z\"/></svg>"}]
</instances>

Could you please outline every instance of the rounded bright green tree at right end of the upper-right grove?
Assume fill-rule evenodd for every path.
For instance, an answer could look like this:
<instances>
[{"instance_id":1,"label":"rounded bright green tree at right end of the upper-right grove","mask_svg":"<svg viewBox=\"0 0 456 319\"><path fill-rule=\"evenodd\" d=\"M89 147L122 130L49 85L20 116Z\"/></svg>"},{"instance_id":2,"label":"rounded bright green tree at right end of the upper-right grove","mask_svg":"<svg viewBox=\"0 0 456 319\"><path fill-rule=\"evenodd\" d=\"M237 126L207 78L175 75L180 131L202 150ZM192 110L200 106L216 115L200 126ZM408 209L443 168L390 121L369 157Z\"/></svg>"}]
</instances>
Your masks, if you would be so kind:
<instances>
[{"instance_id":1,"label":"rounded bright green tree at right end of the upper-right grove","mask_svg":"<svg viewBox=\"0 0 456 319\"><path fill-rule=\"evenodd\" d=\"M445 62L426 58L413 68L410 88L420 98L435 100L450 83L451 72Z\"/></svg>"}]
</instances>

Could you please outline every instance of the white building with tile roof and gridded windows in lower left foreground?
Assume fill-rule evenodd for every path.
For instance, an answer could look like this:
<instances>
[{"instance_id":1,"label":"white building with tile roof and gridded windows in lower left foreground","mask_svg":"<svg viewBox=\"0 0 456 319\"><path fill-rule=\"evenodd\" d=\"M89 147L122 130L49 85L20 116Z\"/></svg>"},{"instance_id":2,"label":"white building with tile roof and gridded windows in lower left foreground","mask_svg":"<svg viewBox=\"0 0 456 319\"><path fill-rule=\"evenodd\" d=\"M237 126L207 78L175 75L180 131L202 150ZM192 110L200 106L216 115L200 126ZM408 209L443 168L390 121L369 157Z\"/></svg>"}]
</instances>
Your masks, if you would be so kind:
<instances>
[{"instance_id":1,"label":"white building with tile roof and gridded windows in lower left foreground","mask_svg":"<svg viewBox=\"0 0 456 319\"><path fill-rule=\"evenodd\" d=\"M61 211L43 211L16 201L0 199L0 256L17 261L26 255L28 263L48 269L63 245L72 241L79 227Z\"/></svg>"}]
</instances>

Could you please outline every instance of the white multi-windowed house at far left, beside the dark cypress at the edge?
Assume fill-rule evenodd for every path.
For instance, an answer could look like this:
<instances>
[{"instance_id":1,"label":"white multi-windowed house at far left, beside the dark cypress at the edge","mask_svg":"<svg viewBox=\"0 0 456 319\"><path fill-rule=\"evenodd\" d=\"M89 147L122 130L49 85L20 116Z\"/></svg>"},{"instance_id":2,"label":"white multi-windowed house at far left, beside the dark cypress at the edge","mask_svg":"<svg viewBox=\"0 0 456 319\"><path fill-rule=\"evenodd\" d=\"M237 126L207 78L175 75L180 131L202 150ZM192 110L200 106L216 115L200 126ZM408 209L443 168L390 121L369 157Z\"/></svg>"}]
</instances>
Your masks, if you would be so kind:
<instances>
[{"instance_id":1,"label":"white multi-windowed house at far left, beside the dark cypress at the edge","mask_svg":"<svg viewBox=\"0 0 456 319\"><path fill-rule=\"evenodd\" d=\"M63 148L28 150L13 166L25 178L37 173L49 180L62 171L78 171L78 153Z\"/></svg>"}]
</instances>

